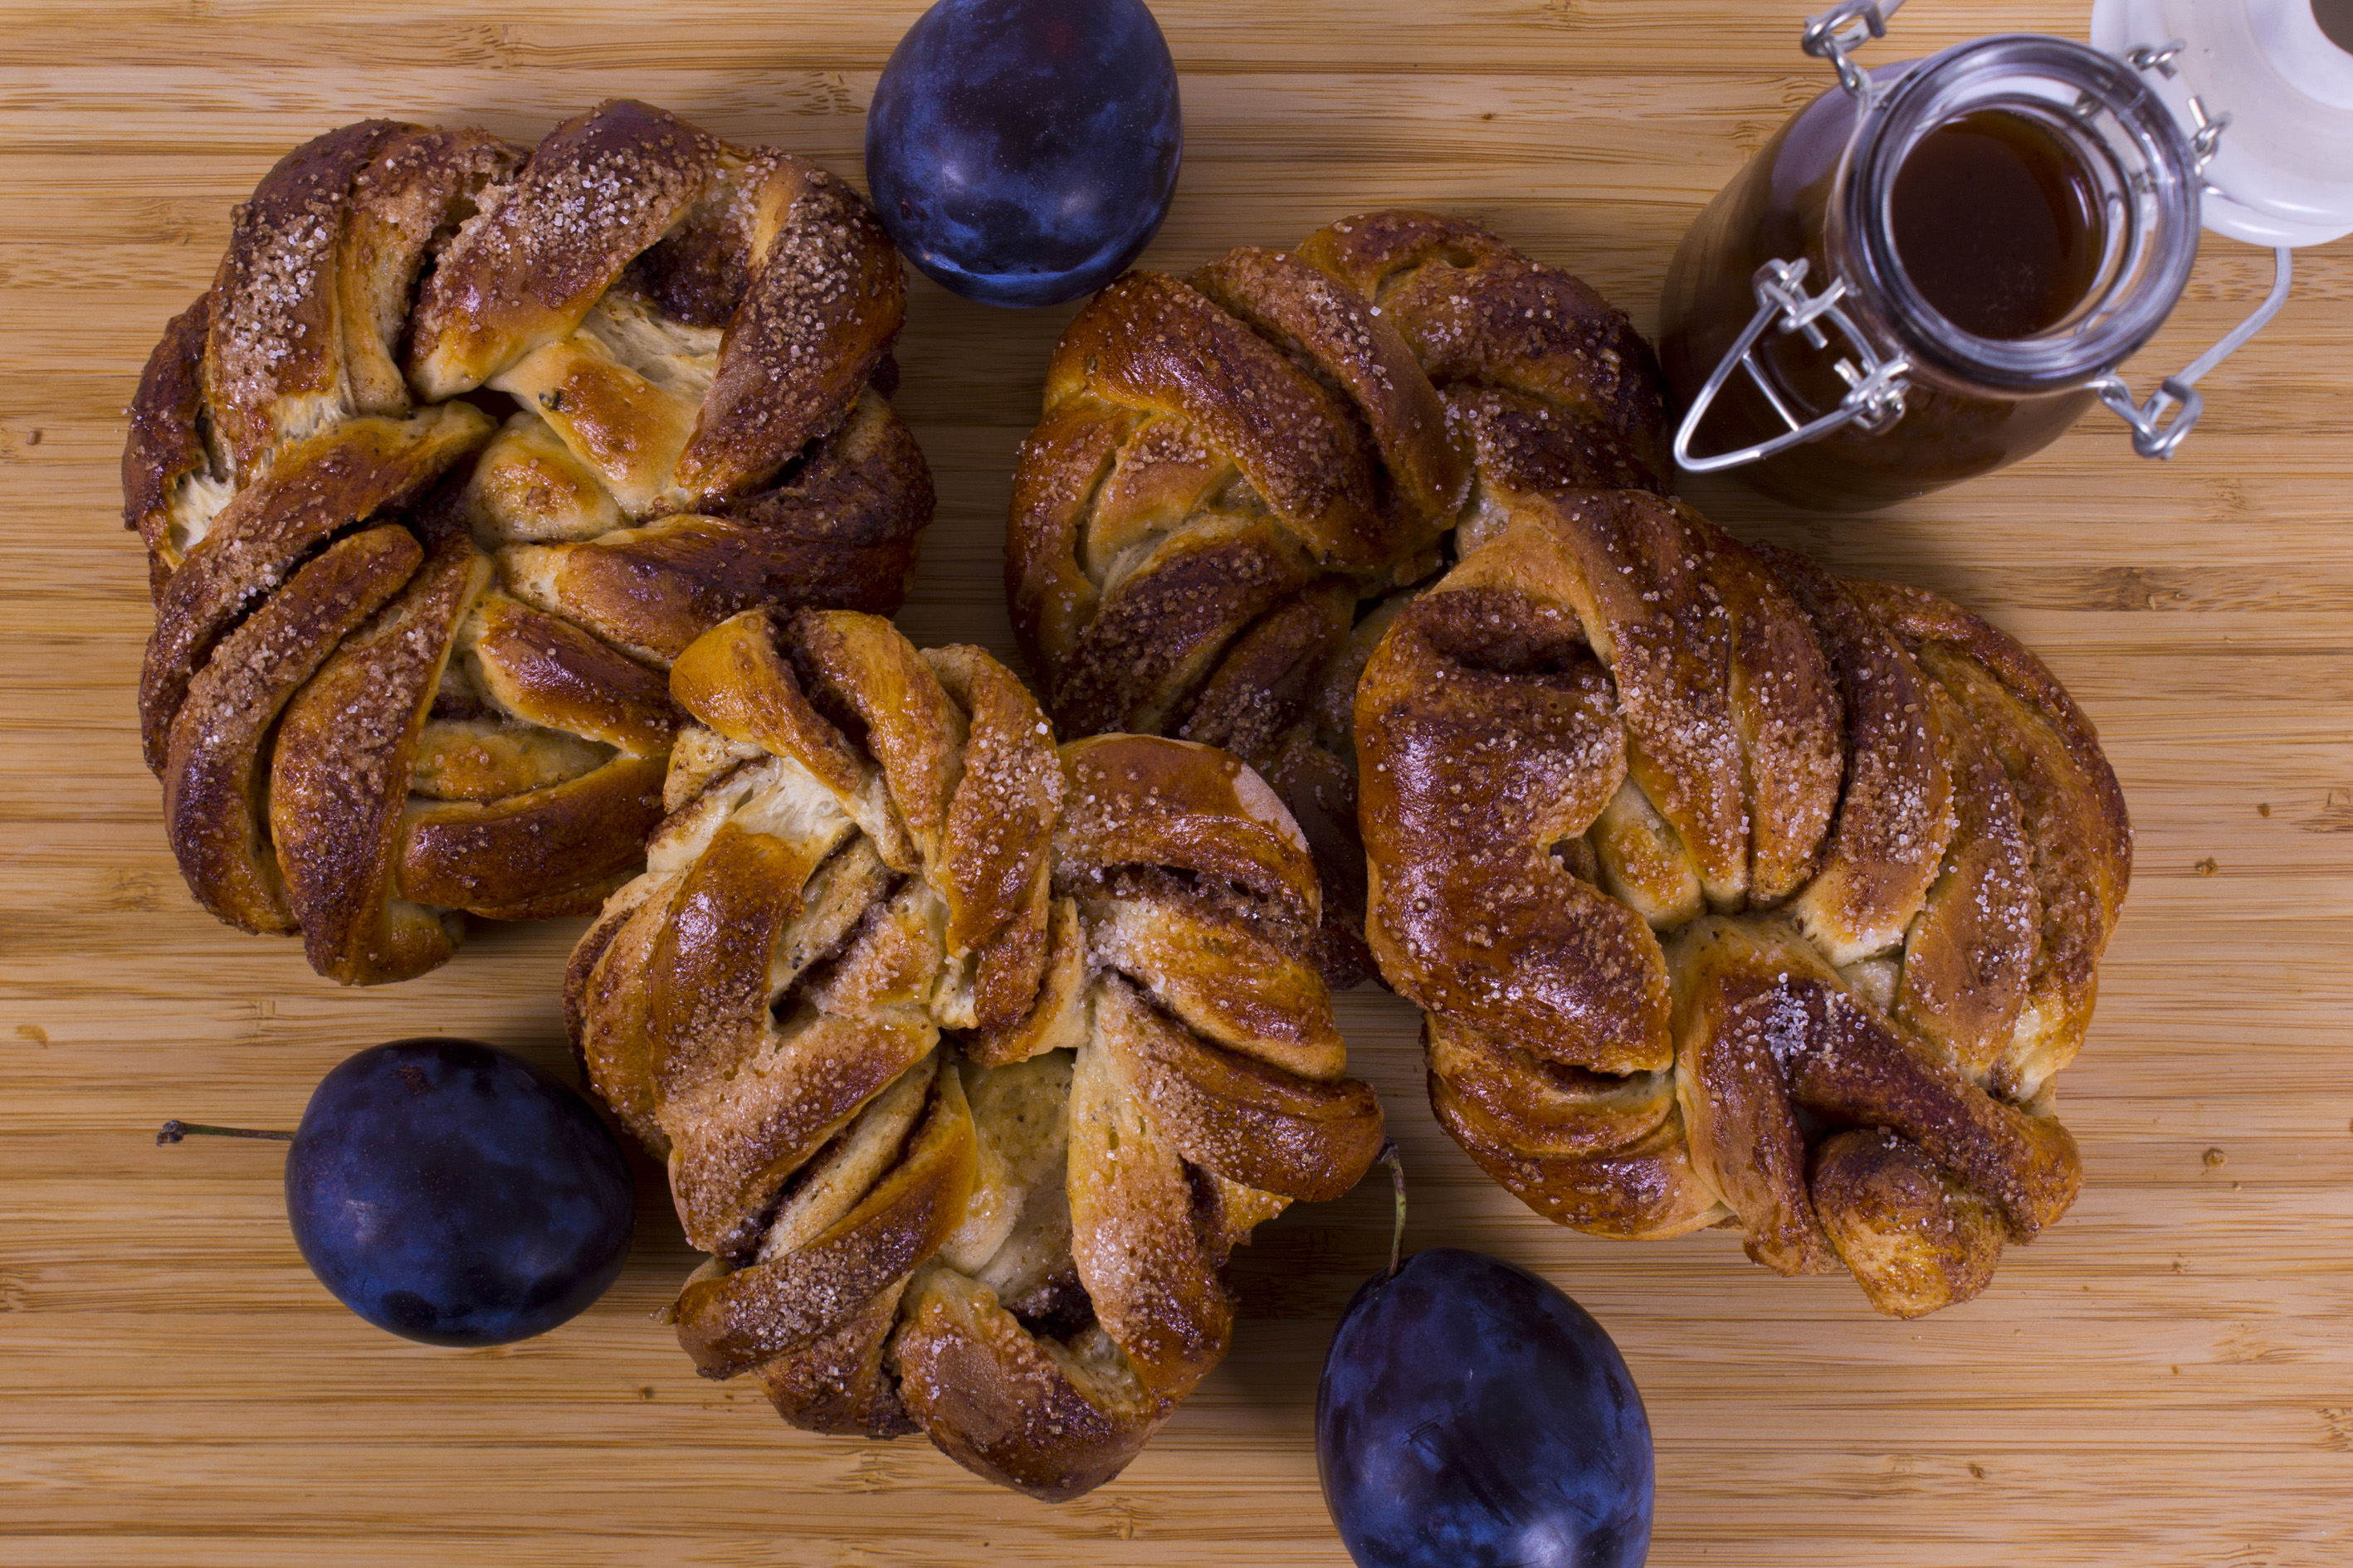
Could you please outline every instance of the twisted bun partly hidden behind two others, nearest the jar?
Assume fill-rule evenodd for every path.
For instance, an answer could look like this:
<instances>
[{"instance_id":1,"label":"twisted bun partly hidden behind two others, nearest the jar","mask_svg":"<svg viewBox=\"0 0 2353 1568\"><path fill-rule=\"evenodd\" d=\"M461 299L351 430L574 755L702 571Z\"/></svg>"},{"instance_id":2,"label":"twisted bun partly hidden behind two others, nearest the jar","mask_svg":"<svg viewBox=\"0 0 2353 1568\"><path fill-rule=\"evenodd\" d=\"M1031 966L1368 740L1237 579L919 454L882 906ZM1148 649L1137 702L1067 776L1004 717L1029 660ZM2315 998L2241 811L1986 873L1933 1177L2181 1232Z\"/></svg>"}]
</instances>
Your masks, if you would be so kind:
<instances>
[{"instance_id":1,"label":"twisted bun partly hidden behind two others, nearest the jar","mask_svg":"<svg viewBox=\"0 0 2353 1568\"><path fill-rule=\"evenodd\" d=\"M1021 449L1014 628L1066 733L1238 752L1322 872L1325 964L1369 969L1348 703L1372 599L1532 491L1661 489L1649 346L1475 223L1374 212L1071 322Z\"/></svg>"}]
</instances>

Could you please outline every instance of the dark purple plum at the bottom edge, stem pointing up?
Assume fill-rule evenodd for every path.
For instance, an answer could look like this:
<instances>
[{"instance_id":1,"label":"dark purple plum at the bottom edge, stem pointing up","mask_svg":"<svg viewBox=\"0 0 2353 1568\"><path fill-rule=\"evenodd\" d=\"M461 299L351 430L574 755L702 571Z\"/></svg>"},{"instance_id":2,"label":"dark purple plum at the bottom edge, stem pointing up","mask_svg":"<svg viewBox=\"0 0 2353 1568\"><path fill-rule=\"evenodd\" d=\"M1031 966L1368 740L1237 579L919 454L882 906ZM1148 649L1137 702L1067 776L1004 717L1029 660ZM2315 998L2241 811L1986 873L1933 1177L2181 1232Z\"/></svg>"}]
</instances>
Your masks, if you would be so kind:
<instances>
[{"instance_id":1,"label":"dark purple plum at the bottom edge, stem pointing up","mask_svg":"<svg viewBox=\"0 0 2353 1568\"><path fill-rule=\"evenodd\" d=\"M1649 1418L1584 1307L1485 1253L1414 1253L1348 1302L1315 1467L1360 1568L1638 1568Z\"/></svg>"}]
</instances>

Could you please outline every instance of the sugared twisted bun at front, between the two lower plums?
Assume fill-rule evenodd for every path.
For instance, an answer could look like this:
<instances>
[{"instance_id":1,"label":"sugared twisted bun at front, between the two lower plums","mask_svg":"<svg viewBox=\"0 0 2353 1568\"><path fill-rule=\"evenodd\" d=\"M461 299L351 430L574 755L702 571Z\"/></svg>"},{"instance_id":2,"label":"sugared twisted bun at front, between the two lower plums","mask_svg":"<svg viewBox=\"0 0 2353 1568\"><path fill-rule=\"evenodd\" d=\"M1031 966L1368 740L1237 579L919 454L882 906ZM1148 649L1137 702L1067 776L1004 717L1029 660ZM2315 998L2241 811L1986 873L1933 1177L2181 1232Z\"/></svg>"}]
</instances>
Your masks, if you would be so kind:
<instances>
[{"instance_id":1,"label":"sugared twisted bun at front, between the two lower plums","mask_svg":"<svg viewBox=\"0 0 2353 1568\"><path fill-rule=\"evenodd\" d=\"M671 691L671 816L565 997L713 1255L680 1342L798 1427L1104 1483L1226 1354L1226 1253L1381 1145L1299 827L875 616L741 614Z\"/></svg>"}]
</instances>

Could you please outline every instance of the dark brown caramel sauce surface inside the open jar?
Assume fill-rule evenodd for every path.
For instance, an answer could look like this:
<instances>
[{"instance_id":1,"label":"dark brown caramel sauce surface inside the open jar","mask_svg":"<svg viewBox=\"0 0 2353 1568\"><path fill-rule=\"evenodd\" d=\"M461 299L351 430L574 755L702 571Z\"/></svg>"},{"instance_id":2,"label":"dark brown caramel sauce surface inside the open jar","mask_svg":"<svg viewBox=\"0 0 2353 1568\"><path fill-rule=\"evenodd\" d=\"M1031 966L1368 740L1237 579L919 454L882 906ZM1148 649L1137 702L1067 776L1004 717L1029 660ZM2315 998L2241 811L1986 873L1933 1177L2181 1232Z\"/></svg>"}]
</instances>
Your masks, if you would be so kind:
<instances>
[{"instance_id":1,"label":"dark brown caramel sauce surface inside the open jar","mask_svg":"<svg viewBox=\"0 0 2353 1568\"><path fill-rule=\"evenodd\" d=\"M2099 277L2099 193L2054 132L1981 108L1904 155L1887 226L1920 296L1981 339L2064 322Z\"/></svg>"}]
</instances>

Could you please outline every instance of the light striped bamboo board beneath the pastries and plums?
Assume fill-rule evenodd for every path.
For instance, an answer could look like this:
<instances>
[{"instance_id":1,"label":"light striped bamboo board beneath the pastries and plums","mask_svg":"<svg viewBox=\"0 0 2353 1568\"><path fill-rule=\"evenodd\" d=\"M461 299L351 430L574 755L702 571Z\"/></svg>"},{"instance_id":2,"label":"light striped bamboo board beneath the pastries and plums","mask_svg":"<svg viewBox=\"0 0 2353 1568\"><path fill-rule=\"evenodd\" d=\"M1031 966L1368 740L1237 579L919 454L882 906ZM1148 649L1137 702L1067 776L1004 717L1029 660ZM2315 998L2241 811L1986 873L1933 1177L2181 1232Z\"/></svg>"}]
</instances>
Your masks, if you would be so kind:
<instances>
[{"instance_id":1,"label":"light striped bamboo board beneath the pastries and plums","mask_svg":"<svg viewBox=\"0 0 2353 1568\"><path fill-rule=\"evenodd\" d=\"M920 0L492 12L414 0L0 5L0 1563L1344 1563L1315 1490L1315 1373L1381 1260L1367 1185L1259 1232L1233 1356L1153 1448L1049 1509L901 1443L786 1429L647 1314L692 1255L645 1168L635 1255L584 1319L506 1349L393 1340L285 1232L280 1152L158 1150L165 1117L292 1126L395 1034L562 1060L579 922L341 992L184 893L139 764L144 564L120 409L209 280L228 207L362 115L536 139L607 94L856 174ZM1184 186L1153 266L1351 209L1475 214L1649 329L1675 237L1828 73L1753 0L1160 0ZM1873 59L2087 7L1920 0ZM2209 242L2132 367L2177 369L2268 273ZM901 623L1000 656L1009 465L1068 310L915 282L899 407L941 515ZM2064 1079L2082 1201L1993 1291L1920 1324L1784 1281L1722 1234L1555 1229L1431 1124L1414 1018L1341 999L1412 1173L1409 1246L1541 1269L1617 1335L1659 1439L1652 1561L2353 1561L2353 244L2207 383L2169 465L2106 414L1868 520L1694 484L1751 538L1937 588L2068 682L2139 825L2099 1023Z\"/></svg>"}]
</instances>

